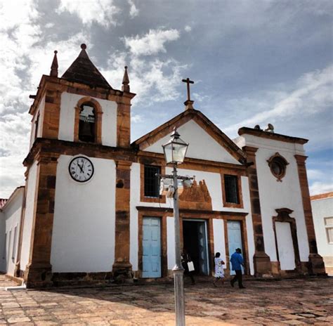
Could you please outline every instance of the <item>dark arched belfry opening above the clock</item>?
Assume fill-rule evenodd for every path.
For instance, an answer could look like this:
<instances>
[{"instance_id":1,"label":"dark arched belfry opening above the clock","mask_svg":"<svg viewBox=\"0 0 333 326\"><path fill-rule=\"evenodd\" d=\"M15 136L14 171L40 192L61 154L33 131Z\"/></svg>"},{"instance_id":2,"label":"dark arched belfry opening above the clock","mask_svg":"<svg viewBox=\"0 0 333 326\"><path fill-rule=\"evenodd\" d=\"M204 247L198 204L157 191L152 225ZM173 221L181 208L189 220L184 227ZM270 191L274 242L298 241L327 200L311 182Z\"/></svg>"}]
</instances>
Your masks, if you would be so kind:
<instances>
[{"instance_id":1,"label":"dark arched belfry opening above the clock","mask_svg":"<svg viewBox=\"0 0 333 326\"><path fill-rule=\"evenodd\" d=\"M79 141L86 143L95 143L96 141L96 112L90 103L84 103L80 106Z\"/></svg>"}]
</instances>

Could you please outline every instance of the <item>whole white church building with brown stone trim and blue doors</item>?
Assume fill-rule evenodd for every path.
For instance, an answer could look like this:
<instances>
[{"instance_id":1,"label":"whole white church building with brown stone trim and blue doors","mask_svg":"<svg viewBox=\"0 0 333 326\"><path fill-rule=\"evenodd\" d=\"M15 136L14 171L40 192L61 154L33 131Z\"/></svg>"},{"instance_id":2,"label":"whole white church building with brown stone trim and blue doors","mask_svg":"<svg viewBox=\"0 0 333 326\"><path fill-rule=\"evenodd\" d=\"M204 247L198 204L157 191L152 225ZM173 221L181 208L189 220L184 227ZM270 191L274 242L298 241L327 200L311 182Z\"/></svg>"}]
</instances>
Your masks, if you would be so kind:
<instances>
[{"instance_id":1,"label":"whole white church building with brown stone trim and blue doors","mask_svg":"<svg viewBox=\"0 0 333 326\"><path fill-rule=\"evenodd\" d=\"M232 141L188 98L183 112L131 143L135 94L126 67L122 84L121 91L108 84L84 44L58 77L55 52L50 75L31 96L25 187L0 212L0 269L27 287L168 278L175 263L173 204L159 195L155 174L171 173L162 145L176 128L190 143L178 174L195 176L179 207L181 246L196 273L212 275L215 252L232 273L229 257L237 247L247 275L325 273L306 139L243 127ZM12 214L15 198L20 204Z\"/></svg>"}]
</instances>

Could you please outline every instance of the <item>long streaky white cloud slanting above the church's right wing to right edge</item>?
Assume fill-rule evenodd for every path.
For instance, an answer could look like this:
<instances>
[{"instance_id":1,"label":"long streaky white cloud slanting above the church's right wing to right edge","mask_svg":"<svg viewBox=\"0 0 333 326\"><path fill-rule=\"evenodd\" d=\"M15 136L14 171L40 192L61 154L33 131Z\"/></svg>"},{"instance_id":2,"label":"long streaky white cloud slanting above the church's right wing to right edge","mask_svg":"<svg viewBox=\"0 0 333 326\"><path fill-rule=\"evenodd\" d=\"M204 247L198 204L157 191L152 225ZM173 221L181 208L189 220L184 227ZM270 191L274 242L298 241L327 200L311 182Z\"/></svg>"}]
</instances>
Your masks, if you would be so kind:
<instances>
[{"instance_id":1,"label":"long streaky white cloud slanting above the church's right wing to right edge","mask_svg":"<svg viewBox=\"0 0 333 326\"><path fill-rule=\"evenodd\" d=\"M262 122L274 122L275 119L285 119L294 115L311 115L327 109L332 105L333 66L329 65L323 70L315 70L303 74L296 81L292 91L279 93L278 102L272 103L272 98L266 98L266 110L263 110L249 119L244 119L225 129L232 132L241 126L254 126ZM282 97L282 99L281 99ZM268 107L270 105L270 108Z\"/></svg>"}]
</instances>

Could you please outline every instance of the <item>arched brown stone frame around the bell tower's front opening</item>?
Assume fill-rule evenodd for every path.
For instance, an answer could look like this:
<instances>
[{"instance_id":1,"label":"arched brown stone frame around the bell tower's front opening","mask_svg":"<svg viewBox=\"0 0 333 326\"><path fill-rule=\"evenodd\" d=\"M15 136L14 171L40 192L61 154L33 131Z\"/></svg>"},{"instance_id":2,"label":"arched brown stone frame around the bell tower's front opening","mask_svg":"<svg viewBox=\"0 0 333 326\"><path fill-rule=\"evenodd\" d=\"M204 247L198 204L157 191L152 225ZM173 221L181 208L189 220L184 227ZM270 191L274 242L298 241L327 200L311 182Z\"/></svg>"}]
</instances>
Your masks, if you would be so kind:
<instances>
[{"instance_id":1,"label":"arched brown stone frame around the bell tower's front opening","mask_svg":"<svg viewBox=\"0 0 333 326\"><path fill-rule=\"evenodd\" d=\"M80 142L79 140L79 116L81 111L81 105L87 103L94 108L95 113L95 142L96 144L102 144L102 115L103 110L97 100L91 98L90 96L85 96L81 98L77 105L75 106L75 118L74 118L74 141Z\"/></svg>"}]
</instances>

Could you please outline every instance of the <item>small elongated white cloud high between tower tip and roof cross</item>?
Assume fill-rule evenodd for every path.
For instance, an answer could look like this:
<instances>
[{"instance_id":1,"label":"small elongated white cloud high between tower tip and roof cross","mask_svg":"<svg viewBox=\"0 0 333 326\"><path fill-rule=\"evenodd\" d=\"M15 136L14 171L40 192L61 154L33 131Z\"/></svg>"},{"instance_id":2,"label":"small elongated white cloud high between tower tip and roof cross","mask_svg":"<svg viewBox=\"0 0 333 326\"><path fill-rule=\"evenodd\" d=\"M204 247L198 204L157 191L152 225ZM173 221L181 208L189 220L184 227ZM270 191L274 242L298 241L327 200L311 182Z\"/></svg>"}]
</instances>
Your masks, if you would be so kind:
<instances>
[{"instance_id":1,"label":"small elongated white cloud high between tower tip and roof cross","mask_svg":"<svg viewBox=\"0 0 333 326\"><path fill-rule=\"evenodd\" d=\"M134 56L150 56L159 52L166 52L164 43L179 39L178 30L150 30L140 37L124 37L125 46Z\"/></svg>"}]
</instances>

